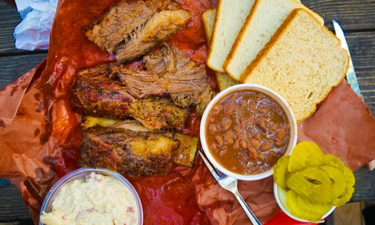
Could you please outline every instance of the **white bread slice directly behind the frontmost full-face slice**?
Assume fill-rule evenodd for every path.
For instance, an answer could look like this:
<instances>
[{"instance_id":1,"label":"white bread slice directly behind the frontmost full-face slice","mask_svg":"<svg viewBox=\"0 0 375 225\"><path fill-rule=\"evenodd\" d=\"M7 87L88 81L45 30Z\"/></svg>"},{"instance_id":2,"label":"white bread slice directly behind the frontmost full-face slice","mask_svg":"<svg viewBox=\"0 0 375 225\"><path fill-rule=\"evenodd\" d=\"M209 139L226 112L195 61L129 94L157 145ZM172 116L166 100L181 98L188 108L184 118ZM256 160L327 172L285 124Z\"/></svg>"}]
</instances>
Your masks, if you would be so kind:
<instances>
[{"instance_id":1,"label":"white bread slice directly behind the frontmost full-face slice","mask_svg":"<svg viewBox=\"0 0 375 225\"><path fill-rule=\"evenodd\" d=\"M241 72L254 60L294 8L308 10L323 24L318 14L296 0L255 0L223 65L233 79L240 79Z\"/></svg>"}]
</instances>

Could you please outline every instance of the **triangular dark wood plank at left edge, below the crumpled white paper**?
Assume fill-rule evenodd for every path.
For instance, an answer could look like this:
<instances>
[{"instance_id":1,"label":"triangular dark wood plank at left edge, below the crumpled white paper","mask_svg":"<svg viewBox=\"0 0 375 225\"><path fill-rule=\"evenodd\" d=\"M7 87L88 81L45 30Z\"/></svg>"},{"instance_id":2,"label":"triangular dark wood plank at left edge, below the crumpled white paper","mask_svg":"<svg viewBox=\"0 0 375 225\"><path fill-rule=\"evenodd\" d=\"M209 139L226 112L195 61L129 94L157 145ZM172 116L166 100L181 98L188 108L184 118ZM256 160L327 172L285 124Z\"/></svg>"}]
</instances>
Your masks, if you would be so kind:
<instances>
[{"instance_id":1,"label":"triangular dark wood plank at left edge, below the crumpled white paper","mask_svg":"<svg viewBox=\"0 0 375 225\"><path fill-rule=\"evenodd\" d=\"M38 65L45 57L45 53L0 57L0 89Z\"/></svg>"}]
</instances>

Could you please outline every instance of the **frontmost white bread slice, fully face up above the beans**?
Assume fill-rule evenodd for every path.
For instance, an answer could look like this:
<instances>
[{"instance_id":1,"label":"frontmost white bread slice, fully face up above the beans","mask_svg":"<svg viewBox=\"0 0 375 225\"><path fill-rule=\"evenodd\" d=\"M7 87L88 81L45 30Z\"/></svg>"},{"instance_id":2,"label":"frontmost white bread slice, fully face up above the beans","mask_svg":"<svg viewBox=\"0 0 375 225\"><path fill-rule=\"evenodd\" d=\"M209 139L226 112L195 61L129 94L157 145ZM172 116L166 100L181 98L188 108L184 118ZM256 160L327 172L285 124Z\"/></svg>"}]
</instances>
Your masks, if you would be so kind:
<instances>
[{"instance_id":1,"label":"frontmost white bread slice, fully face up above the beans","mask_svg":"<svg viewBox=\"0 0 375 225\"><path fill-rule=\"evenodd\" d=\"M241 74L278 92L297 121L311 115L348 67L339 39L304 9L294 9Z\"/></svg>"}]
</instances>

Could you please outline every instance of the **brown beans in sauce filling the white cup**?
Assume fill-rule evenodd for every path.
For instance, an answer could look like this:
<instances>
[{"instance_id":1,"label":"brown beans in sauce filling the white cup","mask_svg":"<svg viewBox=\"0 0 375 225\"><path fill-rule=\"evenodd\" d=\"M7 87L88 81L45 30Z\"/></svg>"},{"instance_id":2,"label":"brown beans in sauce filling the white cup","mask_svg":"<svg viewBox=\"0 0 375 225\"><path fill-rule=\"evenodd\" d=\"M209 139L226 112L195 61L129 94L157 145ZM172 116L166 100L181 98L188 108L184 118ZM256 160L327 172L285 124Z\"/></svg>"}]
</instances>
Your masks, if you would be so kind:
<instances>
[{"instance_id":1,"label":"brown beans in sauce filling the white cup","mask_svg":"<svg viewBox=\"0 0 375 225\"><path fill-rule=\"evenodd\" d=\"M256 174L270 169L284 153L289 125L281 106L254 91L231 92L208 114L206 139L226 169Z\"/></svg>"}]
</instances>

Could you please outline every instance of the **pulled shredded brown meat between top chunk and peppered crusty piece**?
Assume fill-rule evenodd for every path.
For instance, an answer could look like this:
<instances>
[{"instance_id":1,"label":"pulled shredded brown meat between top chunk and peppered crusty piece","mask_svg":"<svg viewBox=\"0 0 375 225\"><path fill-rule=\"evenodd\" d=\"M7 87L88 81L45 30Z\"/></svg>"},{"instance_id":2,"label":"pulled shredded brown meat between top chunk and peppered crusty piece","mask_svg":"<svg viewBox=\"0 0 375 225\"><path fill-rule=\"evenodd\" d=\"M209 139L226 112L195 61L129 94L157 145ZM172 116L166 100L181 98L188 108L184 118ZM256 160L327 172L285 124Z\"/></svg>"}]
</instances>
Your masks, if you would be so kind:
<instances>
[{"instance_id":1,"label":"pulled shredded brown meat between top chunk and peppered crusty piece","mask_svg":"<svg viewBox=\"0 0 375 225\"><path fill-rule=\"evenodd\" d=\"M110 76L136 98L167 95L181 107L199 104L204 110L215 94L207 82L204 65L197 65L174 46L165 45L158 53L146 54L143 63L146 70L114 66Z\"/></svg>"}]
</instances>

